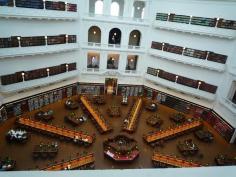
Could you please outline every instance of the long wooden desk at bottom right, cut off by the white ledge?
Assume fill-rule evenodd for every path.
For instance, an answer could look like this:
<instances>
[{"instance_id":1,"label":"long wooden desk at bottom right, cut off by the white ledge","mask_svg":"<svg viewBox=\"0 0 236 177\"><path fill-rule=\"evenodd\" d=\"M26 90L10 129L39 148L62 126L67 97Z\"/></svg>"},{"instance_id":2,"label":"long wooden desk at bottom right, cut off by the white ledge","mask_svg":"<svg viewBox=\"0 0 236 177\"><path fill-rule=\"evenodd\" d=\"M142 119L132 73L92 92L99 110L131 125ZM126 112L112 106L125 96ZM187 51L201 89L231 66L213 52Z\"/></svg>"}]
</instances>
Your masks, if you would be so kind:
<instances>
[{"instance_id":1,"label":"long wooden desk at bottom right, cut off by the white ledge","mask_svg":"<svg viewBox=\"0 0 236 177\"><path fill-rule=\"evenodd\" d=\"M197 163L158 153L153 154L152 161L160 164L165 164L166 166L170 167L201 167L201 165Z\"/></svg>"}]
</instances>

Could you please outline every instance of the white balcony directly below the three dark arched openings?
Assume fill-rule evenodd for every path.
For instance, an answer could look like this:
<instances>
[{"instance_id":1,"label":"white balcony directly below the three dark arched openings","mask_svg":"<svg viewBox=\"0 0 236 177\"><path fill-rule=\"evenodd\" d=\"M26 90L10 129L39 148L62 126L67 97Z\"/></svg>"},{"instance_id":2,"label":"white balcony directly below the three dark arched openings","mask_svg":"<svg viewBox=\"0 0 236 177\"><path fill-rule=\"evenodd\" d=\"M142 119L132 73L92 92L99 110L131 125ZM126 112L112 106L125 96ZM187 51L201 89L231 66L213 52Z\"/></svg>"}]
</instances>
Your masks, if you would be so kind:
<instances>
[{"instance_id":1,"label":"white balcony directly below the three dark arched openings","mask_svg":"<svg viewBox=\"0 0 236 177\"><path fill-rule=\"evenodd\" d=\"M137 52L137 53L145 52L145 48L141 46L101 44L101 43L94 43L94 42L85 42L83 43L82 48L97 49L97 50L111 50L111 51L127 51L127 52Z\"/></svg>"}]
</instances>

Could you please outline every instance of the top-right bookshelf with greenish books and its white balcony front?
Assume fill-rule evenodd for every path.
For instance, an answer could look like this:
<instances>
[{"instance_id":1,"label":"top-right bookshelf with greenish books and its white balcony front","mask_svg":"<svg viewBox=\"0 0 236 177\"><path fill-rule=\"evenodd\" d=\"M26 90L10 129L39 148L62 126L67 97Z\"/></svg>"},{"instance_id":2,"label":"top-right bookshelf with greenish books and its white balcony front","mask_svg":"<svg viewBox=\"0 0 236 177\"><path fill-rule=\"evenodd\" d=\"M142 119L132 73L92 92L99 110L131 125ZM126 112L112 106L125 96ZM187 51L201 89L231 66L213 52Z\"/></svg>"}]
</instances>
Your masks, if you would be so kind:
<instances>
[{"instance_id":1,"label":"top-right bookshelf with greenish books and its white balcony front","mask_svg":"<svg viewBox=\"0 0 236 177\"><path fill-rule=\"evenodd\" d=\"M173 23L174 22L174 23ZM154 28L234 39L236 21L216 17L198 17L174 13L156 13Z\"/></svg>"}]
</instances>

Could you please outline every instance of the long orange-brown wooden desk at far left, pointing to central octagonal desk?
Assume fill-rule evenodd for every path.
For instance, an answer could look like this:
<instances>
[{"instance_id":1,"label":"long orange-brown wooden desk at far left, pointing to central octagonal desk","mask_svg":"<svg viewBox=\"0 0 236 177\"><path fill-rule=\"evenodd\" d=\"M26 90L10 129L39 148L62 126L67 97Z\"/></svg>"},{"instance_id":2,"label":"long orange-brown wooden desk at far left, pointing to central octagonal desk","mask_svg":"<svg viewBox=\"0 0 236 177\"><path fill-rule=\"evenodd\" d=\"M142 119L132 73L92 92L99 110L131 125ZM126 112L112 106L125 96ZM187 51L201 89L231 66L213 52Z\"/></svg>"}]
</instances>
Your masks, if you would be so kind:
<instances>
[{"instance_id":1,"label":"long orange-brown wooden desk at far left, pointing to central octagonal desk","mask_svg":"<svg viewBox=\"0 0 236 177\"><path fill-rule=\"evenodd\" d=\"M86 135L82 131L74 131L66 128L59 128L53 125L48 125L38 121L33 121L28 118L19 118L18 123L26 127L34 128L37 130L43 130L51 134L69 138L73 141L76 139L87 144L92 144L94 141L94 137Z\"/></svg>"}]
</instances>

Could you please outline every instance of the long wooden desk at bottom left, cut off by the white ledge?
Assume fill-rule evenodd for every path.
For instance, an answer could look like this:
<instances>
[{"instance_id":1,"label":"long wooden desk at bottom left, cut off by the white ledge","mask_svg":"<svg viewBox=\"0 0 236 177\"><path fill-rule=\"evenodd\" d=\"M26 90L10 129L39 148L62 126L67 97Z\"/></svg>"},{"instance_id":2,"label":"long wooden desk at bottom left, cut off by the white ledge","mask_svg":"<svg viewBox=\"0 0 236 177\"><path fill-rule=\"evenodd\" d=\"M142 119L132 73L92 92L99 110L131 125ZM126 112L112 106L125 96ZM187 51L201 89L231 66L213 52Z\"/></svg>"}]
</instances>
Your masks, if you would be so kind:
<instances>
[{"instance_id":1,"label":"long wooden desk at bottom left, cut off by the white ledge","mask_svg":"<svg viewBox=\"0 0 236 177\"><path fill-rule=\"evenodd\" d=\"M94 154L88 154L86 156L82 156L67 162L58 163L47 168L43 168L42 170L47 171L58 171L58 170L72 170L77 169L85 165L89 165L95 162Z\"/></svg>"}]
</instances>

